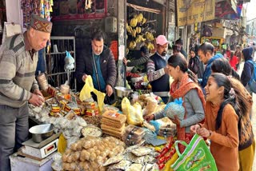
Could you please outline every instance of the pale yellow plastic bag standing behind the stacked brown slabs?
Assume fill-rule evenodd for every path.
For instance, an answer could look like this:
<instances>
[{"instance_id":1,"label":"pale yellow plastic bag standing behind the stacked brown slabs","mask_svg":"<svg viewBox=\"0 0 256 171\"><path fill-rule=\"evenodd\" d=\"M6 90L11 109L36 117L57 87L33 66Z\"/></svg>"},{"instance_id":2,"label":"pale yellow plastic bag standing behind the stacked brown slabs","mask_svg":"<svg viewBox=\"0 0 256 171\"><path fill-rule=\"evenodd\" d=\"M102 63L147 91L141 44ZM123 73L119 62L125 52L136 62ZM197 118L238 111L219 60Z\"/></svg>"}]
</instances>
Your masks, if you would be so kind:
<instances>
[{"instance_id":1,"label":"pale yellow plastic bag standing behind the stacked brown slabs","mask_svg":"<svg viewBox=\"0 0 256 171\"><path fill-rule=\"evenodd\" d=\"M127 97L122 99L122 113L126 115L127 123L130 125L142 125L142 106L138 103L130 105L130 101Z\"/></svg>"}]
</instances>

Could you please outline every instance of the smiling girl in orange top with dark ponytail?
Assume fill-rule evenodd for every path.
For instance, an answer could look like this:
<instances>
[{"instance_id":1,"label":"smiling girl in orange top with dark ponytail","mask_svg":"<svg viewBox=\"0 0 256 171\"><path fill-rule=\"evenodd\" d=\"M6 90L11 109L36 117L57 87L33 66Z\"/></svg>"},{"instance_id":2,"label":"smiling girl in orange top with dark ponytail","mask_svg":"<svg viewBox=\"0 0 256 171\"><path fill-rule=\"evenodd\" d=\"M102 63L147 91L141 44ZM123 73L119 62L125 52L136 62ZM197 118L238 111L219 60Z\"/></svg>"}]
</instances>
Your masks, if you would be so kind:
<instances>
[{"instance_id":1,"label":"smiling girl in orange top with dark ponytail","mask_svg":"<svg viewBox=\"0 0 256 171\"><path fill-rule=\"evenodd\" d=\"M206 121L190 128L210 139L210 152L219 171L239 169L238 104L235 104L237 96L231 87L226 75L211 74L205 87Z\"/></svg>"}]
</instances>

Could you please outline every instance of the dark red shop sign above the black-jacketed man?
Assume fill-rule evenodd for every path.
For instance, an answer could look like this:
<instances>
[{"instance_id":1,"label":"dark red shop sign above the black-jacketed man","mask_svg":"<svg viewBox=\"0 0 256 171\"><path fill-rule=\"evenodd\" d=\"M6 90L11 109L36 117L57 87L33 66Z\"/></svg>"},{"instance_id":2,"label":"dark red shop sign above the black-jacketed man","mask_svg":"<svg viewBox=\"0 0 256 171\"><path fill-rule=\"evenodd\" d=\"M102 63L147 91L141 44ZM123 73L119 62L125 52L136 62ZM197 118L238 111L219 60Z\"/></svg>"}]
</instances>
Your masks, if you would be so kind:
<instances>
[{"instance_id":1,"label":"dark red shop sign above the black-jacketed man","mask_svg":"<svg viewBox=\"0 0 256 171\"><path fill-rule=\"evenodd\" d=\"M106 0L55 0L53 7L53 21L100 19L107 13Z\"/></svg>"}]
</instances>

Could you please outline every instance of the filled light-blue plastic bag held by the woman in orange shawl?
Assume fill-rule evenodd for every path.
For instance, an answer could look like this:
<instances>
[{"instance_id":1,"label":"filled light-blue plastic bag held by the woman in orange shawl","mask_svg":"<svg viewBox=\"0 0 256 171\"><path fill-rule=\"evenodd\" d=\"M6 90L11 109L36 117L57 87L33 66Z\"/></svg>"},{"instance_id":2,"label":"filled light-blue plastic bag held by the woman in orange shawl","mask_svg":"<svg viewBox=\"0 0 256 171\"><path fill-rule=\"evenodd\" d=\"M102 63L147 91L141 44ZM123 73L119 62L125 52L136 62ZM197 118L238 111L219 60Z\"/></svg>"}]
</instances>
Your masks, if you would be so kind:
<instances>
[{"instance_id":1,"label":"filled light-blue plastic bag held by the woman in orange shawl","mask_svg":"<svg viewBox=\"0 0 256 171\"><path fill-rule=\"evenodd\" d=\"M179 120L184 119L185 109L182 105L182 97L174 99L174 101L168 103L165 107L164 116L174 119L174 116L177 115Z\"/></svg>"}]
</instances>

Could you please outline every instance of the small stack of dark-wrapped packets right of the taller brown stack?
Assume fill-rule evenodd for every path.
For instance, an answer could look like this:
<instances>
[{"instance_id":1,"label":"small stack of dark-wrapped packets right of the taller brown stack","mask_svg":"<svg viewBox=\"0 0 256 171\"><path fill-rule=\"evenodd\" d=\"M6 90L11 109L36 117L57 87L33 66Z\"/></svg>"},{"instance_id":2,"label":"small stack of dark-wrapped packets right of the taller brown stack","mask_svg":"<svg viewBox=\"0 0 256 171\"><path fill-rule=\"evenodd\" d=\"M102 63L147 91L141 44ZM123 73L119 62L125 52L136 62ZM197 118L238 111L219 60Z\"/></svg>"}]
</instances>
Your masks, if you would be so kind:
<instances>
[{"instance_id":1,"label":"small stack of dark-wrapped packets right of the taller brown stack","mask_svg":"<svg viewBox=\"0 0 256 171\"><path fill-rule=\"evenodd\" d=\"M143 141L144 135L145 129L135 125L128 125L122 140L126 143L126 145L137 145Z\"/></svg>"}]
</instances>

